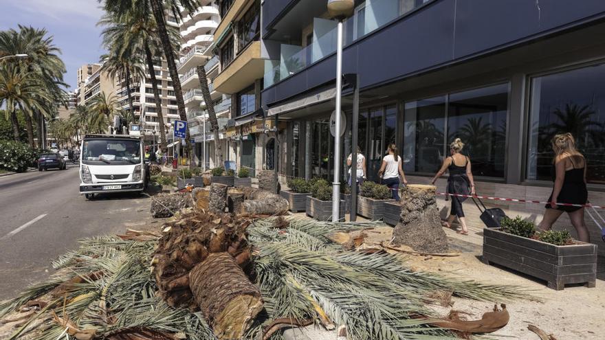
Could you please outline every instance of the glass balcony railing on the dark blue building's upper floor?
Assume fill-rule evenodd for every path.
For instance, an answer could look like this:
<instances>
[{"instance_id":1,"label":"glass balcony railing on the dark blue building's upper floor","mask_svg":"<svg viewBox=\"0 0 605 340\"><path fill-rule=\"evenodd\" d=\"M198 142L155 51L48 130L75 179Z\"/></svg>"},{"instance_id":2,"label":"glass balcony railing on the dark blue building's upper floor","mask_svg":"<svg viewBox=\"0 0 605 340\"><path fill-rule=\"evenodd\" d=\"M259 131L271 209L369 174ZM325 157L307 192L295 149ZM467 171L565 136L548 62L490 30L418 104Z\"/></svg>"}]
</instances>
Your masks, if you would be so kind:
<instances>
[{"instance_id":1,"label":"glass balcony railing on the dark blue building's upper floor","mask_svg":"<svg viewBox=\"0 0 605 340\"><path fill-rule=\"evenodd\" d=\"M350 45L411 10L434 0L372 0L344 21L344 45ZM336 52L336 21L314 19L313 43L306 47L281 45L280 60L265 62L265 88L280 82Z\"/></svg>"}]
</instances>

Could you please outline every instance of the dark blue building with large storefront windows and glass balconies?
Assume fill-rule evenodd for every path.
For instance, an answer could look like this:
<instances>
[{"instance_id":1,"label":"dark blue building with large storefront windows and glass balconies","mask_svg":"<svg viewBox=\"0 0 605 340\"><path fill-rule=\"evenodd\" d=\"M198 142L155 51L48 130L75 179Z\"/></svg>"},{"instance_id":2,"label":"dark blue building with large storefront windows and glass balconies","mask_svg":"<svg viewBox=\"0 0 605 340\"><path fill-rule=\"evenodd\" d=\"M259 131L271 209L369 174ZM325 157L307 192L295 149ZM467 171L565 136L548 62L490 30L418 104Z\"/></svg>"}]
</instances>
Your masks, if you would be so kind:
<instances>
[{"instance_id":1,"label":"dark blue building with large storefront windows and glass balconies","mask_svg":"<svg viewBox=\"0 0 605 340\"><path fill-rule=\"evenodd\" d=\"M408 181L429 183L460 137L479 194L546 201L549 139L570 132L586 156L589 199L605 202L605 43L595 39L605 33L604 1L355 1L344 22L342 67L359 77L359 128L351 129L352 84L346 84L344 152L336 160L329 132L336 22L326 1L265 0L262 12L272 61L261 102L267 118L288 126L281 173L331 179L336 163L346 176L344 157L356 133L369 179L379 180L386 147L395 143ZM445 180L437 185L445 190ZM544 211L537 204L489 203L536 222ZM472 202L465 205L467 220L481 225ZM586 223L600 242L599 228ZM558 227L568 226L561 218Z\"/></svg>"}]
</instances>

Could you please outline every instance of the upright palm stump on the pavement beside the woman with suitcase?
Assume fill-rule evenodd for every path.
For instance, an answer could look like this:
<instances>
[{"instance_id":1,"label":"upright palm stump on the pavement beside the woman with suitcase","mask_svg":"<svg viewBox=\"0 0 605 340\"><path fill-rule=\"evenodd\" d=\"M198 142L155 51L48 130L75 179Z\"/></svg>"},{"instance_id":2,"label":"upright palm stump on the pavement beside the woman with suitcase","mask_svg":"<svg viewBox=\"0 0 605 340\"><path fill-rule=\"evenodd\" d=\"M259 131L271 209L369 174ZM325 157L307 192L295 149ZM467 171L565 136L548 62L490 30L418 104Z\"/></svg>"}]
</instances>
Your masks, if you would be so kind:
<instances>
[{"instance_id":1,"label":"upright palm stump on the pavement beside the woman with suitcase","mask_svg":"<svg viewBox=\"0 0 605 340\"><path fill-rule=\"evenodd\" d=\"M401 198L401 216L393 243L422 253L447 253L448 238L441 227L433 185L408 185Z\"/></svg>"}]
</instances>

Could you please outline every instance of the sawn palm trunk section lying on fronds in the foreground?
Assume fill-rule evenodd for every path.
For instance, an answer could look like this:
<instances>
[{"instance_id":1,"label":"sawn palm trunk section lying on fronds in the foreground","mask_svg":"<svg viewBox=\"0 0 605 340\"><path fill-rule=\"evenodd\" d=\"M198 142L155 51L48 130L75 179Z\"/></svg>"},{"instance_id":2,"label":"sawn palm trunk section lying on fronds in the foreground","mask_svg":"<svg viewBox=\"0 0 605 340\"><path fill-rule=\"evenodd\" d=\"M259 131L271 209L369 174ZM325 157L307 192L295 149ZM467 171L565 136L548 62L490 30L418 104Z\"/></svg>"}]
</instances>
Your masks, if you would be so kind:
<instances>
[{"instance_id":1,"label":"sawn palm trunk section lying on fronds in the foreground","mask_svg":"<svg viewBox=\"0 0 605 340\"><path fill-rule=\"evenodd\" d=\"M228 253L212 253L189 273L195 302L221 340L241 339L263 309L261 291Z\"/></svg>"}]
</instances>

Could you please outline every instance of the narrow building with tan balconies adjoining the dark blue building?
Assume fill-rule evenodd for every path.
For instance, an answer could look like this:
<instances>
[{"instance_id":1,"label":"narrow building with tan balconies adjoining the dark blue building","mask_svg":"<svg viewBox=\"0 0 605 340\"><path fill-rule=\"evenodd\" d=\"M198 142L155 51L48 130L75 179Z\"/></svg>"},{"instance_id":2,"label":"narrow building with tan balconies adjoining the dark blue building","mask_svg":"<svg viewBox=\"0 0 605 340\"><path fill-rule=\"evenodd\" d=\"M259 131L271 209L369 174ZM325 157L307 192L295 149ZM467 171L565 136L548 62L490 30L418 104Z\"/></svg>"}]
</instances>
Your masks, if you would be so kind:
<instances>
[{"instance_id":1,"label":"narrow building with tan balconies adjoining the dark blue building","mask_svg":"<svg viewBox=\"0 0 605 340\"><path fill-rule=\"evenodd\" d=\"M221 22L214 32L218 56L214 89L232 98L229 157L237 159L239 166L263 168L263 150L271 138L262 128L261 0L221 0L218 5Z\"/></svg>"}]
</instances>

